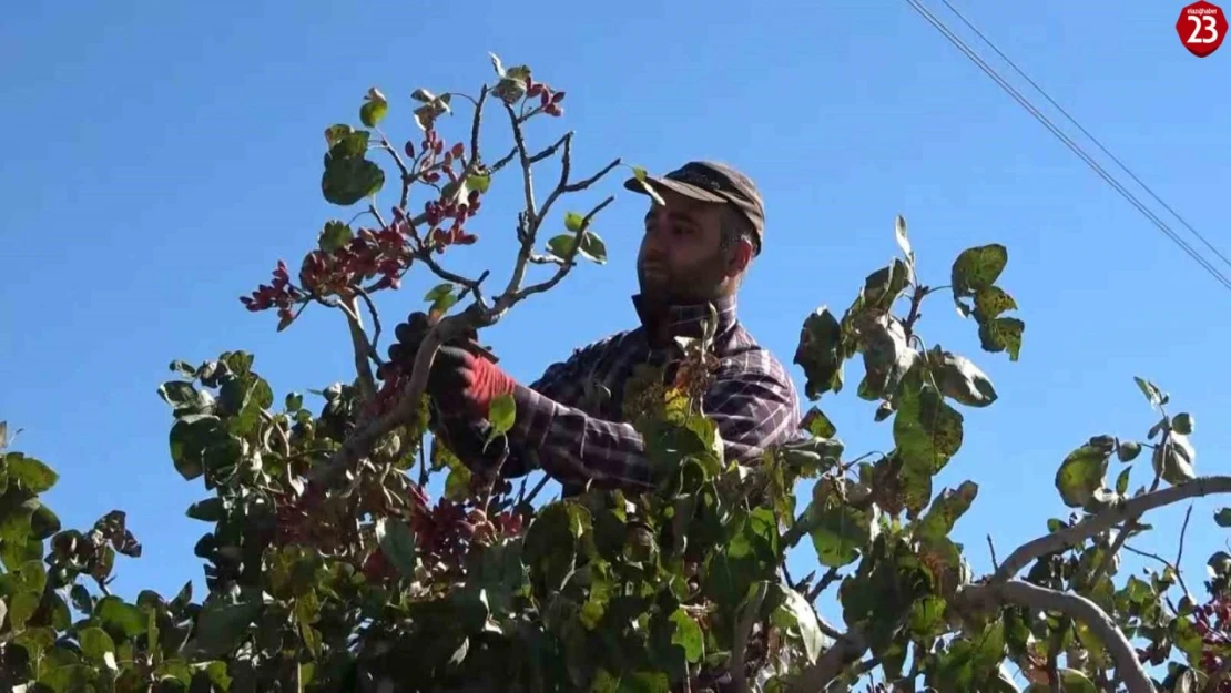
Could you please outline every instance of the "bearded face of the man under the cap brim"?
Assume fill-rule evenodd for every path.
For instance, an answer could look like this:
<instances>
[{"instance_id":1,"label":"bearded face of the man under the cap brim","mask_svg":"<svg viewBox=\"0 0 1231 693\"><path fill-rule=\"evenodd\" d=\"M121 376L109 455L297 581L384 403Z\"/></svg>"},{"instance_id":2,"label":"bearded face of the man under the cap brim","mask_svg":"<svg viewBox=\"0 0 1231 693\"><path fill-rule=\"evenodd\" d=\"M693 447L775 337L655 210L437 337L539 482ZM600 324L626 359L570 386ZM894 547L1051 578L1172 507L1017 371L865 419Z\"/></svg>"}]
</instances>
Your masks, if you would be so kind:
<instances>
[{"instance_id":1,"label":"bearded face of the man under the cap brim","mask_svg":"<svg viewBox=\"0 0 1231 693\"><path fill-rule=\"evenodd\" d=\"M667 303L714 298L734 273L731 252L721 247L723 208L661 191L652 203L636 258L641 294Z\"/></svg>"}]
</instances>

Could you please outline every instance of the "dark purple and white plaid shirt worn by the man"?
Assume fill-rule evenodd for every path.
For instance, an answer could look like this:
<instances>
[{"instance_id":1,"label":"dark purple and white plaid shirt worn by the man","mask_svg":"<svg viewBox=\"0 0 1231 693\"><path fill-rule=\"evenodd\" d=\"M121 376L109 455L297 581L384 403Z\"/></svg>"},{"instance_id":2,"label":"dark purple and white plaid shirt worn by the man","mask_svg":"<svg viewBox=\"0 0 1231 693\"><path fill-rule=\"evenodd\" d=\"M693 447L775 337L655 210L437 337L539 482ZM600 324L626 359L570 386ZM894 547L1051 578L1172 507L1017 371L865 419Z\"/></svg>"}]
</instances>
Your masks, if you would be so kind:
<instances>
[{"instance_id":1,"label":"dark purple and white plaid shirt worn by the man","mask_svg":"<svg viewBox=\"0 0 1231 693\"><path fill-rule=\"evenodd\" d=\"M582 347L567 361L548 367L529 387L517 385L517 421L508 432L510 455L502 475L521 476L540 468L560 481L566 494L587 481L634 491L651 484L645 442L623 421L625 383L638 364L670 367L677 361L682 352L672 337L700 336L710 311L705 304L672 306L665 318L652 319L638 298L634 304L640 327ZM714 355L719 362L702 407L718 425L726 459L750 464L767 447L796 435L799 396L783 364L739 322L734 297L716 302L715 308ZM603 385L611 396L591 396L593 384ZM449 428L449 438L455 439L460 431ZM483 436L480 428L474 432ZM468 442L475 439L480 438ZM501 446L475 454L478 447L481 443L464 446L468 452L463 459L470 465L494 464L495 448Z\"/></svg>"}]
</instances>

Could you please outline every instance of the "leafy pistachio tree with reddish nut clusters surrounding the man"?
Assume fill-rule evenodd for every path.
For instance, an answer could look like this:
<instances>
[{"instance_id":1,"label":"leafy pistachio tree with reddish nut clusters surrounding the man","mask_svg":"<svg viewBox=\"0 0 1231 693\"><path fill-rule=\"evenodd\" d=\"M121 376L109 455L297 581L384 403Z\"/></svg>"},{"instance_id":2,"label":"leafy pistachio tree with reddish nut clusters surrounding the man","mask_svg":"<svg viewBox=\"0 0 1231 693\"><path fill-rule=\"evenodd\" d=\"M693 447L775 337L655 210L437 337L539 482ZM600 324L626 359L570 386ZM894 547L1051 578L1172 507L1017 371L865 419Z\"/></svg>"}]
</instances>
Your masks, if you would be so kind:
<instances>
[{"instance_id":1,"label":"leafy pistachio tree with reddish nut clusters surrounding the man","mask_svg":"<svg viewBox=\"0 0 1231 693\"><path fill-rule=\"evenodd\" d=\"M116 554L140 554L126 516L113 511L87 532L62 531L39 500L55 473L22 453L0 458L0 684L57 693L811 692L849 689L868 676L878 691L1003 692L1018 691L1012 663L1027 691L1073 693L1120 683L1134 692L1194 691L1229 668L1231 556L1210 559L1204 606L1184 587L1178 556L1153 556L1162 570L1117 582L1119 553L1150 529L1140 517L1165 505L1160 494L1174 502L1231 491L1224 478L1200 490L1193 417L1168 415L1169 398L1146 380L1139 385L1161 412L1146 439L1104 435L1081 444L1056 473L1072 515L1050 519L1048 534L975 579L950 534L979 485L937 491L933 479L961 448L963 409L986 407L997 391L969 358L924 342L921 306L950 289L959 313L979 325L982 348L1011 361L1019 358L1024 324L1004 316L1017 304L997 286L1003 246L963 251L950 284L928 287L900 217L901 257L872 272L841 318L825 306L809 315L794 358L812 403L840 393L847 361L862 361L857 395L876 403L875 421L891 420L888 453L848 455L832 421L812 406L798 438L757 464L726 459L698 404L716 363L712 331L681 342L672 379L644 367L627 384L625 419L654 465L644 492L588 487L535 503L542 483L527 490L523 478L515 491L510 480L469 469L441 439L426 444L426 396L410 398L409 416L371 433L390 403L401 406L410 374L382 368L385 387L373 388L364 371L369 359L380 364L375 337L363 331L355 300L368 303L379 334L368 293L396 288L394 278L422 263L446 281L426 295L435 318L467 293L481 303L479 281L448 273L433 256L465 238L458 229L500 167L478 155L487 94L515 128L506 161L517 158L526 171L529 208L518 219L515 274L527 262L555 265L551 281L531 287L547 290L576 256L604 258L588 230L593 212L569 213L567 233L548 241L548 255L533 252L547 207L585 186L566 182L566 137L553 145L565 151L561 183L543 208L534 206L528 166L539 155L527 153L519 124L560 114L563 92L526 66L506 69L495 58L494 66L495 86L474 100L469 155L436 132L452 95L415 92L426 134L419 156L403 148L410 165L375 129L388 111L375 90L359 113L371 130L330 128L325 198L353 204L384 185L383 170L366 158L377 132L403 174L394 220L357 234L326 224L302 286L292 287L279 265L275 283L245 302L286 311L318 300L345 310L353 382L314 391L321 403L313 411L299 393L276 396L246 352L171 364L178 378L159 389L174 419L170 458L207 494L187 510L209 526L194 548L208 587L199 603L191 582L171 599L111 595ZM411 217L415 183L439 194ZM369 213L379 218L374 204ZM380 286L363 286L377 274ZM519 281L497 306L533 293ZM497 400L487 444L505 444L515 419L512 400ZM366 442L352 460L346 453L356 441ZM1152 451L1152 481L1130 495L1131 463L1144 448ZM1113 455L1125 465L1114 484ZM347 463L339 478L319 474L339 459ZM433 500L426 489L437 474L446 475L444 491ZM805 480L811 492L800 502ZM1217 522L1231 524L1231 511ZM805 539L824 574L795 580L785 559ZM835 585L841 629L815 606ZM1177 586L1183 597L1174 606ZM1125 659L1128 641L1137 646ZM1145 678L1144 666L1162 665L1165 679Z\"/></svg>"}]
</instances>

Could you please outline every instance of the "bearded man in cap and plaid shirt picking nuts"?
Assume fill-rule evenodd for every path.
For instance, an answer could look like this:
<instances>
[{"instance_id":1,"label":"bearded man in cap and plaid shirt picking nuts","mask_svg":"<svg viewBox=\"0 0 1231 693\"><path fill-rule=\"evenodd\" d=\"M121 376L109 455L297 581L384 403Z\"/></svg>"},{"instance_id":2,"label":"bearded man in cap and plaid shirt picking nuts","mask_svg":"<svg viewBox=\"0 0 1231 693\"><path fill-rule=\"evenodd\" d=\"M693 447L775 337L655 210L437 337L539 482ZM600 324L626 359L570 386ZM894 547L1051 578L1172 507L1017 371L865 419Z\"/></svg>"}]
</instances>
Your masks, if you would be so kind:
<instances>
[{"instance_id":1,"label":"bearded man in cap and plaid shirt picking nuts","mask_svg":"<svg viewBox=\"0 0 1231 693\"><path fill-rule=\"evenodd\" d=\"M726 458L755 463L766 447L795 435L799 399L787 369L736 318L736 292L764 235L760 192L744 174L709 161L648 176L645 183L665 204L651 202L645 215L640 293L633 297L639 327L576 351L529 387L464 345L438 352L428 383L438 407L433 428L471 469L490 471L497 463L503 446L484 449L485 420L491 401L511 394L517 417L500 465L503 476L540 468L566 495L587 484L651 486L645 443L623 417L625 384L638 364L677 362L683 353L675 337L700 336L710 305L718 314L718 368L702 407L718 425ZM645 192L635 178L625 187ZM421 313L399 325L390 359L409 363L426 329Z\"/></svg>"}]
</instances>

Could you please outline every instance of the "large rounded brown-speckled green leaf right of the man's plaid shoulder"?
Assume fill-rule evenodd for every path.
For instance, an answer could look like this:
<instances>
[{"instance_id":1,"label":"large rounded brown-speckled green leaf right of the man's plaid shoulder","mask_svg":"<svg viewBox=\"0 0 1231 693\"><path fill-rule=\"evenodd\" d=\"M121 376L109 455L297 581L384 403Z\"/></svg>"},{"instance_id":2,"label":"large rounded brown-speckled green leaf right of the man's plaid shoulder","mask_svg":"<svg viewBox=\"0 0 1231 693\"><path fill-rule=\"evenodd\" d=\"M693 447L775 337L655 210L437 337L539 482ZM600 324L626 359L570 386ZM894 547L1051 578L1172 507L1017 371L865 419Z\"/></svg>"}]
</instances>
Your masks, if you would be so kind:
<instances>
[{"instance_id":1,"label":"large rounded brown-speckled green leaf right of the man's plaid shoulder","mask_svg":"<svg viewBox=\"0 0 1231 693\"><path fill-rule=\"evenodd\" d=\"M894 417L894 443L907 468L936 474L961 447L963 417L931 387L905 390Z\"/></svg>"}]
</instances>

